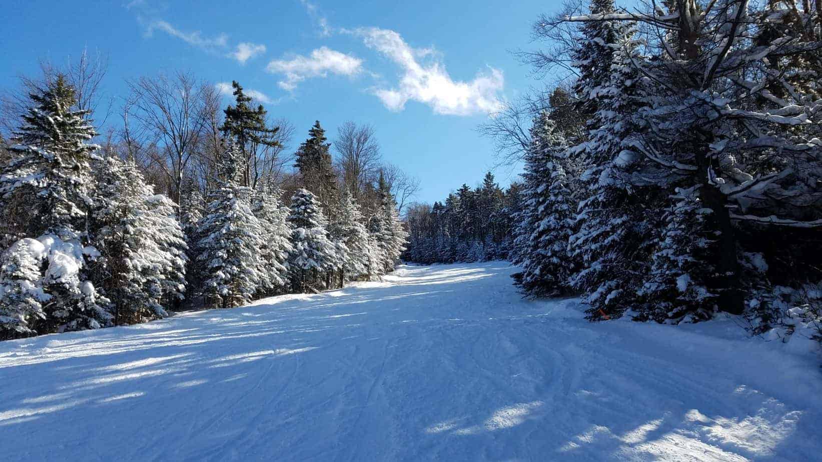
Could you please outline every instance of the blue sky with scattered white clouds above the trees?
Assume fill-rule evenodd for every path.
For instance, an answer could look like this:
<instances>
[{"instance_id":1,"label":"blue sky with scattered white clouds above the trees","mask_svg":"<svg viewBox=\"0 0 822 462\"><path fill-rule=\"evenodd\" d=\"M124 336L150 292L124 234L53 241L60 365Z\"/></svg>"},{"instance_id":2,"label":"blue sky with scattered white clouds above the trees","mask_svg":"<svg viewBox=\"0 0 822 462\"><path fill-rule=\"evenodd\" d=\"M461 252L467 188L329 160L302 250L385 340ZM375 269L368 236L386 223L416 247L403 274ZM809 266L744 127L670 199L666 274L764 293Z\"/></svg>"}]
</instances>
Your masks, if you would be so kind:
<instances>
[{"instance_id":1,"label":"blue sky with scattered white clouds above the trees","mask_svg":"<svg viewBox=\"0 0 822 462\"><path fill-rule=\"evenodd\" d=\"M532 0L13 2L3 7L0 85L84 47L108 55L109 95L125 96L127 78L177 69L238 80L293 123L293 146L315 119L331 137L346 120L372 124L386 159L420 178L416 199L435 201L495 163L474 129L497 101L534 85L510 50L531 46L530 24L546 8ZM497 172L501 183L510 171Z\"/></svg>"}]
</instances>

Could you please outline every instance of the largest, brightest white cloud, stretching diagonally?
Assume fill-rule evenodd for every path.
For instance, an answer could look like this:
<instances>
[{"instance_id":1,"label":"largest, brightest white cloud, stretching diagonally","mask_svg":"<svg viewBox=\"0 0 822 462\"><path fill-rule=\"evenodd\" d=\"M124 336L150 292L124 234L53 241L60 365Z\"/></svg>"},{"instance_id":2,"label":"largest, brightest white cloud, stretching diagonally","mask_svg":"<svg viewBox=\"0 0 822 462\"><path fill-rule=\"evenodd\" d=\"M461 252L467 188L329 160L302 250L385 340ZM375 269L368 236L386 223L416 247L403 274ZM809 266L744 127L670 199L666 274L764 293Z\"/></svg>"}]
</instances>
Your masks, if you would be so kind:
<instances>
[{"instance_id":1,"label":"largest, brightest white cloud, stretching diagonally","mask_svg":"<svg viewBox=\"0 0 822 462\"><path fill-rule=\"evenodd\" d=\"M350 32L350 31L349 31ZM394 30L376 27L354 30L368 48L395 62L401 76L395 88L377 88L374 95L386 108L401 111L409 100L428 104L435 113L471 115L499 109L499 92L505 79L499 69L488 67L473 81L453 81L441 62L421 64L418 59L436 56L432 49L413 49Z\"/></svg>"}]
</instances>

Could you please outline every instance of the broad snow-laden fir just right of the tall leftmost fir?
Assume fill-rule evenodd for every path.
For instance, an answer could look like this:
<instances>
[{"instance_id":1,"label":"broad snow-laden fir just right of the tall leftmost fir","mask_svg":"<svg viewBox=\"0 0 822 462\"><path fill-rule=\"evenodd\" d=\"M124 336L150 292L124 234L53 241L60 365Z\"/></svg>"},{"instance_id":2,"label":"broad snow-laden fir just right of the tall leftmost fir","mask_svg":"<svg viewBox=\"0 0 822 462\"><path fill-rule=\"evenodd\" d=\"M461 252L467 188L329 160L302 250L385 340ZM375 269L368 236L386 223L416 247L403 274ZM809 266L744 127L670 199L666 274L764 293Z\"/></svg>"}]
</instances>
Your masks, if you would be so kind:
<instances>
[{"instance_id":1,"label":"broad snow-laden fir just right of the tall leftmost fir","mask_svg":"<svg viewBox=\"0 0 822 462\"><path fill-rule=\"evenodd\" d=\"M187 247L175 205L155 195L131 159L95 162L95 186L94 277L112 301L114 324L167 316L185 291Z\"/></svg>"}]
</instances>

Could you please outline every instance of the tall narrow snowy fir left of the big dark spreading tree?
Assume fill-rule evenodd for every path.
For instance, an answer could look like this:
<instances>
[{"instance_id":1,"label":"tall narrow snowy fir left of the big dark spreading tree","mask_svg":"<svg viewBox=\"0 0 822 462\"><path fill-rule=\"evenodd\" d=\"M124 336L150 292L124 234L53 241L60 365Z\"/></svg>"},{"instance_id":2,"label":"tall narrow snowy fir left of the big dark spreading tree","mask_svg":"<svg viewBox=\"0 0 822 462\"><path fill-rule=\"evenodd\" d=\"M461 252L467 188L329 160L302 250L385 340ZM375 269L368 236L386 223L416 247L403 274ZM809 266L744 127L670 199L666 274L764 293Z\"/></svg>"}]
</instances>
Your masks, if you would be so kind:
<instances>
[{"instance_id":1,"label":"tall narrow snowy fir left of the big dark spreading tree","mask_svg":"<svg viewBox=\"0 0 822 462\"><path fill-rule=\"evenodd\" d=\"M614 44L610 81L594 94L589 141L580 146L589 163L583 182L588 196L580 202L577 232L570 238L570 250L582 264L570 284L583 294L591 319L618 317L635 307L658 218L649 211L657 188L630 176L640 156L634 146L642 121L635 114L645 99L642 76L633 65L639 58L633 30L621 31L626 35Z\"/></svg>"}]
</instances>

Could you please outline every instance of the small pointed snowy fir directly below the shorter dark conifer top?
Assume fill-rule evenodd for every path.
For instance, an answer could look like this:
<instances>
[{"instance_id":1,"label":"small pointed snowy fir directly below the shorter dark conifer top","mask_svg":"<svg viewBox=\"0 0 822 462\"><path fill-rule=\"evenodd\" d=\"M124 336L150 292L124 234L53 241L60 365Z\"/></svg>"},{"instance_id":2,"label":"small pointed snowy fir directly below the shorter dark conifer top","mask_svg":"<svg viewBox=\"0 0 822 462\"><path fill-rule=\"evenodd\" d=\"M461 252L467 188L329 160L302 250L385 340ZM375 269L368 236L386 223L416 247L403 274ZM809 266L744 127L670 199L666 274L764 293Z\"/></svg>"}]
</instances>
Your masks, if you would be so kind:
<instances>
[{"instance_id":1,"label":"small pointed snowy fir directly below the shorter dark conifer top","mask_svg":"<svg viewBox=\"0 0 822 462\"><path fill-rule=\"evenodd\" d=\"M328 220L322 214L320 201L312 192L298 189L291 197L291 244L289 267L293 288L305 292L319 276L335 266L336 247L329 239Z\"/></svg>"}]
</instances>

